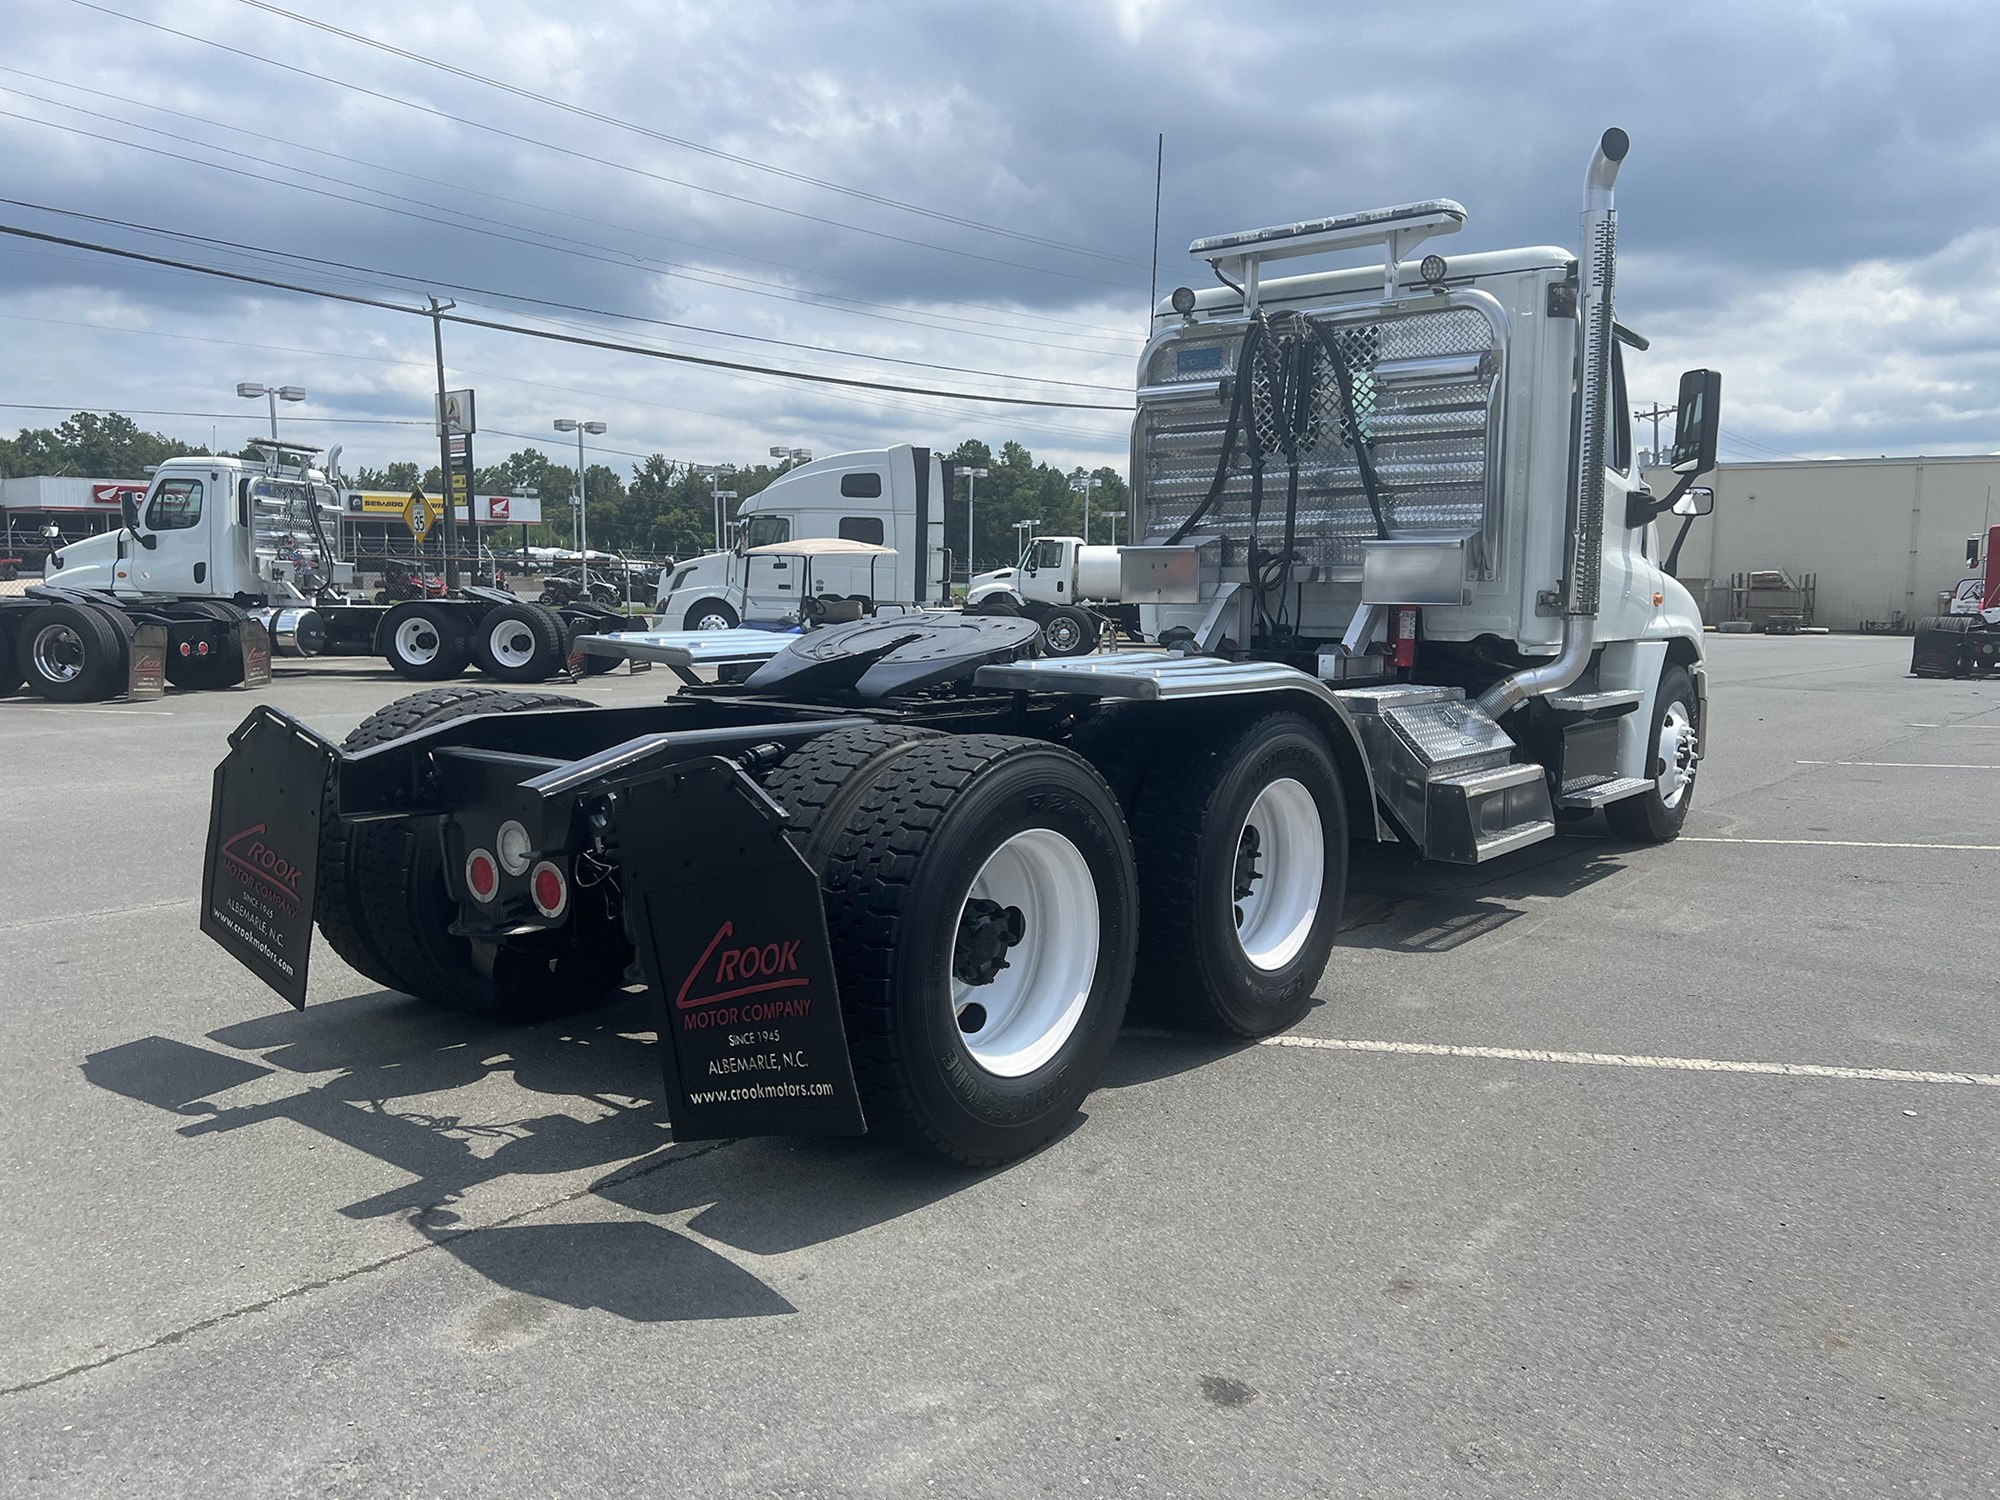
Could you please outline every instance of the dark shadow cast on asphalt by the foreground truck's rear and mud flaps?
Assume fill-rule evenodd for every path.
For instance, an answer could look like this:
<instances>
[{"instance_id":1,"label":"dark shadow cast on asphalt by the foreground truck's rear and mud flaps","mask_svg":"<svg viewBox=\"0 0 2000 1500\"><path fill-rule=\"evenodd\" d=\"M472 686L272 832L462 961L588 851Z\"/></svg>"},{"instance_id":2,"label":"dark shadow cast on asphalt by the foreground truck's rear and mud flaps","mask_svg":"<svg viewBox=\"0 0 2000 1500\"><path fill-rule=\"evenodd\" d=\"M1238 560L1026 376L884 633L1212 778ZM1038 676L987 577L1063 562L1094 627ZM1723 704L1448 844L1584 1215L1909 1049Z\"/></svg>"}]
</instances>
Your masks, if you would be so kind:
<instances>
[{"instance_id":1,"label":"dark shadow cast on asphalt by the foreground truck's rear and mud flaps","mask_svg":"<svg viewBox=\"0 0 2000 1500\"><path fill-rule=\"evenodd\" d=\"M208 1038L220 1046L144 1036L92 1052L82 1072L174 1116L190 1142L280 1122L362 1152L408 1182L334 1212L402 1218L500 1286L634 1322L792 1312L702 1240L784 1254L922 1210L986 1176L866 1138L674 1144L658 1104L654 1026L648 994L534 1026L360 994L224 1026ZM538 1108L544 1098L548 1108ZM296 1150L298 1134L272 1142ZM594 1168L602 1174L586 1186L532 1200L506 1182ZM314 1178L302 1176L310 1196ZM326 1178L350 1172L330 1168ZM582 1220L590 1198L694 1234L622 1216ZM566 1214L578 1222L514 1222Z\"/></svg>"}]
</instances>

